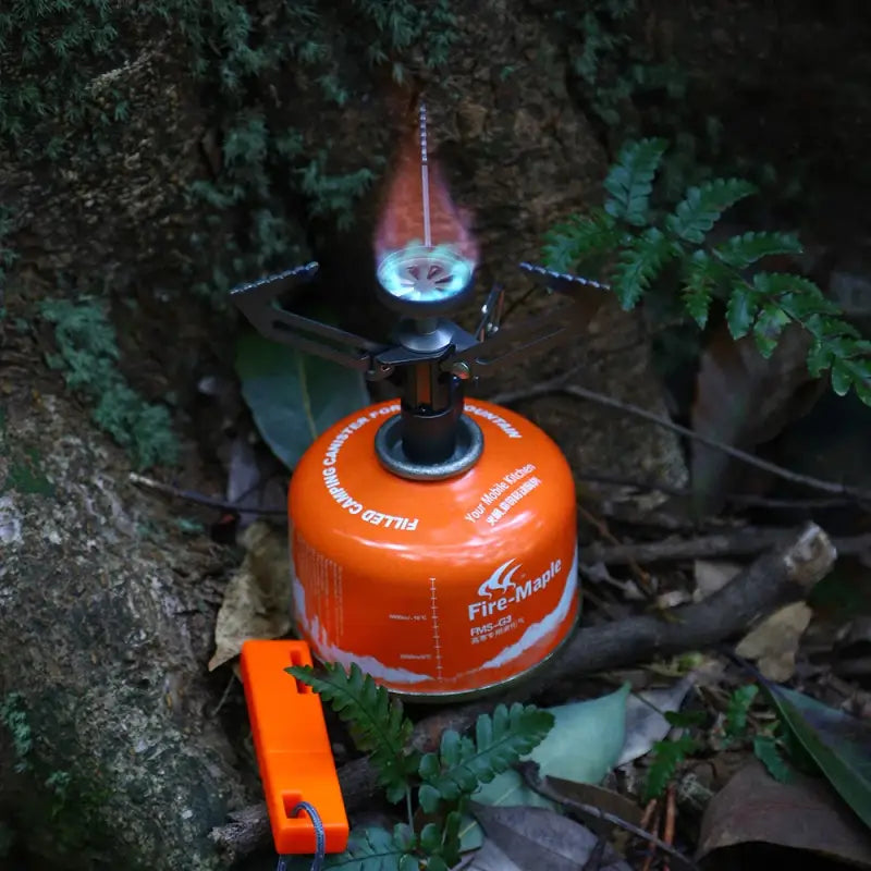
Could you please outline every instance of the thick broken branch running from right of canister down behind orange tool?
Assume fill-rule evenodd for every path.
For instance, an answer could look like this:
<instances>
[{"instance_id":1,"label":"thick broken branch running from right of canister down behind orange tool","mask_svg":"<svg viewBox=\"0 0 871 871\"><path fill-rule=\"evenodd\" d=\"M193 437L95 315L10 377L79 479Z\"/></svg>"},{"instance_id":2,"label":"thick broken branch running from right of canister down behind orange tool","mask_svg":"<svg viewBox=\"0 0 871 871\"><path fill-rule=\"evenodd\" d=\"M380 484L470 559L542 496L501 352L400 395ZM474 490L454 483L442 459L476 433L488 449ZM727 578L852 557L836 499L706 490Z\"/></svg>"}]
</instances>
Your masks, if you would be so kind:
<instances>
[{"instance_id":1,"label":"thick broken branch running from right of canister down behind orange tool","mask_svg":"<svg viewBox=\"0 0 871 871\"><path fill-rule=\"evenodd\" d=\"M714 647L746 633L777 608L802 599L827 574L835 556L825 532L809 524L788 543L760 556L709 599L670 612L673 621L646 615L585 627L535 680L501 698L446 709L426 717L415 726L413 741L417 747L432 749L445 728L467 729L482 711L498 701L518 701L542 688L574 680L580 674ZM351 812L370 806L378 796L375 771L365 757L342 765L339 781ZM268 846L266 806L252 806L235 813L233 822L212 830L211 838L233 858L246 856L255 846Z\"/></svg>"}]
</instances>

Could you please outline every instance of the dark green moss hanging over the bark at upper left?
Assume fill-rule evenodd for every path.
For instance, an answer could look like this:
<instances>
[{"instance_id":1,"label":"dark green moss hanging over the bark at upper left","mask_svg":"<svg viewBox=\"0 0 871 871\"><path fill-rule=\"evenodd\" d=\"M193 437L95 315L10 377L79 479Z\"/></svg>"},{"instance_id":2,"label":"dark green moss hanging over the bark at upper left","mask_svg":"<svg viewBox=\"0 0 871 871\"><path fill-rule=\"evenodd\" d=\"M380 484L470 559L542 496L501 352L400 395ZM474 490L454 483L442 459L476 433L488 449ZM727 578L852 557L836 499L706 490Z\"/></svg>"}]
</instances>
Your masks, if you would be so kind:
<instances>
[{"instance_id":1,"label":"dark green moss hanging over the bark at upper left","mask_svg":"<svg viewBox=\"0 0 871 871\"><path fill-rule=\"evenodd\" d=\"M359 85L340 49L343 57L365 54L404 82L443 65L456 38L449 0L355 0L348 11L354 26L340 29L335 4L327 0L260 7L246 0L12 3L0 11L0 147L52 161L72 148L99 157L113 147L111 125L130 118L125 68L145 57L144 35L160 30L185 39L189 74L201 82L210 123L220 128L220 155L210 155L214 177L188 191L191 207L205 212L205 226L191 238L183 279L212 305L226 307L226 292L240 281L306 256L294 195L307 201L311 216L347 229L380 160L373 154L367 165L336 167L331 156L312 156L312 144L293 127L267 121L267 108L253 95L274 94L280 81L286 107L302 106L304 96L310 111L312 87L344 107ZM13 257L2 244L4 217L0 210L0 287Z\"/></svg>"}]
</instances>

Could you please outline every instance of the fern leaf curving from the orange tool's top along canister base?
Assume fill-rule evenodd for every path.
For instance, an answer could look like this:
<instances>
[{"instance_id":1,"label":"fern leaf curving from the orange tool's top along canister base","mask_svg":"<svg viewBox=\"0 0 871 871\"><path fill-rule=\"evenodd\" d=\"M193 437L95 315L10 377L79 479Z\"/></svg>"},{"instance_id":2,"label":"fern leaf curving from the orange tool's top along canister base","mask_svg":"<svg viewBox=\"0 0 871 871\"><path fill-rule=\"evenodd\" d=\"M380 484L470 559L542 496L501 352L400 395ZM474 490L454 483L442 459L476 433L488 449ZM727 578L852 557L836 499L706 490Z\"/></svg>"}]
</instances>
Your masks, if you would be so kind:
<instances>
[{"instance_id":1,"label":"fern leaf curving from the orange tool's top along canister base","mask_svg":"<svg viewBox=\"0 0 871 871\"><path fill-rule=\"evenodd\" d=\"M412 722L403 715L401 702L391 699L387 689L356 664L346 672L331 663L324 666L322 676L309 665L292 665L284 671L319 692L348 725L354 744L369 753L388 799L395 802L404 798L418 755L407 749Z\"/></svg>"}]
</instances>

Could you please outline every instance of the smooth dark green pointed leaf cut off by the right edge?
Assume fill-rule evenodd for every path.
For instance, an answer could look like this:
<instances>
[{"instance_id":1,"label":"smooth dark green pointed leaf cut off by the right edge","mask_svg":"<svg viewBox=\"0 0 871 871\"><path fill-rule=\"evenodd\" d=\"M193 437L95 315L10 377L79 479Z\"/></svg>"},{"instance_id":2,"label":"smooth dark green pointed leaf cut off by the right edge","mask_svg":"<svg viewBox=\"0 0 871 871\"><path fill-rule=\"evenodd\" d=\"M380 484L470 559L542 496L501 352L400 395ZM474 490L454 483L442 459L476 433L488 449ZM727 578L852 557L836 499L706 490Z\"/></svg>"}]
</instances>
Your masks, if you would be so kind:
<instances>
[{"instance_id":1,"label":"smooth dark green pointed leaf cut off by the right edge","mask_svg":"<svg viewBox=\"0 0 871 871\"><path fill-rule=\"evenodd\" d=\"M871 826L871 726L794 689L772 684L765 688L820 771Z\"/></svg>"}]
</instances>

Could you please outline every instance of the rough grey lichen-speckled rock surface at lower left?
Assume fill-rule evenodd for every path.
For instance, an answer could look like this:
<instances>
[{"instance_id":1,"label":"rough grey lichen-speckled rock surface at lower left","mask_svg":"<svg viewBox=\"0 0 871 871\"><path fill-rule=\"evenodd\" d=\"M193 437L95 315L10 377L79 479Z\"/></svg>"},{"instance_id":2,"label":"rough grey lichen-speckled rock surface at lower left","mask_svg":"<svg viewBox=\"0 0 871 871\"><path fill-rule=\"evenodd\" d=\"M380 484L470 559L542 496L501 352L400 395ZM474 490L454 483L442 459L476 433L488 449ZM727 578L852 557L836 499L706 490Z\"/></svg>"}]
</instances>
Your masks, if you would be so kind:
<instances>
[{"instance_id":1,"label":"rough grey lichen-speckled rock surface at lower left","mask_svg":"<svg viewBox=\"0 0 871 871\"><path fill-rule=\"evenodd\" d=\"M226 555L174 532L125 465L68 397L8 396L0 819L40 869L205 871L210 827L252 796L205 664Z\"/></svg>"}]
</instances>

